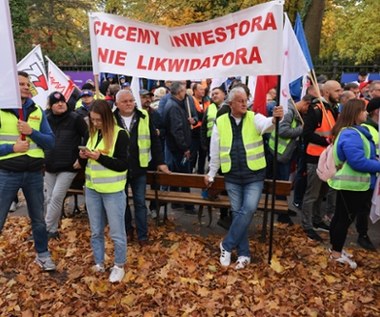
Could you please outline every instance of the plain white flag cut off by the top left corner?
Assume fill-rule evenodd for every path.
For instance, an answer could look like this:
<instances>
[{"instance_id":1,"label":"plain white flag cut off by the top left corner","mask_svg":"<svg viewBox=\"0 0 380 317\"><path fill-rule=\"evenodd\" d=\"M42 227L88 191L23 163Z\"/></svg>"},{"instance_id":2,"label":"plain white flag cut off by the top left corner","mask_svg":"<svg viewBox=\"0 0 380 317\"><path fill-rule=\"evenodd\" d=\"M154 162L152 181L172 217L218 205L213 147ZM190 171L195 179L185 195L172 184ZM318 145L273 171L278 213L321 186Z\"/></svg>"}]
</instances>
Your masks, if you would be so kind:
<instances>
[{"instance_id":1,"label":"plain white flag cut off by the top left corner","mask_svg":"<svg viewBox=\"0 0 380 317\"><path fill-rule=\"evenodd\" d=\"M0 0L0 108L21 108L8 0Z\"/></svg>"}]
</instances>

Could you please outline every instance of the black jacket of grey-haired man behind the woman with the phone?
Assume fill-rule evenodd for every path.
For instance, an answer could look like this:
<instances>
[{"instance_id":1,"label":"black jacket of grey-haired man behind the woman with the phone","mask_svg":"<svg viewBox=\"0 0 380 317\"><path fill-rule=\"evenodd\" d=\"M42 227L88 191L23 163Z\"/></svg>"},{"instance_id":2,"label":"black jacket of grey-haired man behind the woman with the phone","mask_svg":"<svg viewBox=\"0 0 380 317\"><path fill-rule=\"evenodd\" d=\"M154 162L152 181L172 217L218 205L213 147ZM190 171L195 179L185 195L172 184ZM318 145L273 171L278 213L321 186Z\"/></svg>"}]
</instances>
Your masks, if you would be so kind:
<instances>
[{"instance_id":1,"label":"black jacket of grey-haired man behind the woman with the phone","mask_svg":"<svg viewBox=\"0 0 380 317\"><path fill-rule=\"evenodd\" d=\"M120 116L119 109L114 111L114 116L119 127L125 129L124 121ZM136 177L146 173L147 167L140 166L139 160L139 147L138 147L138 124L140 118L145 118L145 114L139 109L135 109L133 114L133 119L131 123L131 128L129 131L129 150L128 150L128 177ZM155 166L164 164L164 156L162 153L161 141L156 133L153 121L150 117L149 120L149 132L150 132L150 150L152 155L152 162L150 166Z\"/></svg>"}]
</instances>

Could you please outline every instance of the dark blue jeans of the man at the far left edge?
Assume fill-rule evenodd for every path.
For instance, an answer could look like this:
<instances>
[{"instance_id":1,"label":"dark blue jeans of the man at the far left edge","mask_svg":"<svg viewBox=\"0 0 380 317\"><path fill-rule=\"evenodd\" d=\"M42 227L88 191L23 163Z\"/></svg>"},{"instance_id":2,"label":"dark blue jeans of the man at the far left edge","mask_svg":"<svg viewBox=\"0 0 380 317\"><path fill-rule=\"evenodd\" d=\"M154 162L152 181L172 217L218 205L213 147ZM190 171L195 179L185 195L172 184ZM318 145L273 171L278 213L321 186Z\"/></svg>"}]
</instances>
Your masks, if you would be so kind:
<instances>
[{"instance_id":1,"label":"dark blue jeans of the man at the far left edge","mask_svg":"<svg viewBox=\"0 0 380 317\"><path fill-rule=\"evenodd\" d=\"M34 247L39 257L50 255L44 219L44 181L42 172L12 172L0 170L0 232L19 189L22 189L30 220Z\"/></svg>"}]
</instances>

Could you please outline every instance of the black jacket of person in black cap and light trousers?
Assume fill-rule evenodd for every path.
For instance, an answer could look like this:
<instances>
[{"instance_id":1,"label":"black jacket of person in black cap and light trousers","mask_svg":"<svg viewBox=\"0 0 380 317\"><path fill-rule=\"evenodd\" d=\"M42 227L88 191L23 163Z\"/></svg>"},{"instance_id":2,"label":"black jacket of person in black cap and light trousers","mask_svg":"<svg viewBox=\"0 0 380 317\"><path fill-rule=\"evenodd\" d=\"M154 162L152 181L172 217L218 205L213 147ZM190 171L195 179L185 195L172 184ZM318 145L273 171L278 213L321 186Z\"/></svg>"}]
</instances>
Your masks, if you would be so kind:
<instances>
[{"instance_id":1,"label":"black jacket of person in black cap and light trousers","mask_svg":"<svg viewBox=\"0 0 380 317\"><path fill-rule=\"evenodd\" d=\"M78 146L85 145L88 139L86 122L82 116L72 111L58 116L48 110L46 116L55 134L54 149L45 150L46 171L49 173L76 171L73 164L79 158Z\"/></svg>"}]
</instances>

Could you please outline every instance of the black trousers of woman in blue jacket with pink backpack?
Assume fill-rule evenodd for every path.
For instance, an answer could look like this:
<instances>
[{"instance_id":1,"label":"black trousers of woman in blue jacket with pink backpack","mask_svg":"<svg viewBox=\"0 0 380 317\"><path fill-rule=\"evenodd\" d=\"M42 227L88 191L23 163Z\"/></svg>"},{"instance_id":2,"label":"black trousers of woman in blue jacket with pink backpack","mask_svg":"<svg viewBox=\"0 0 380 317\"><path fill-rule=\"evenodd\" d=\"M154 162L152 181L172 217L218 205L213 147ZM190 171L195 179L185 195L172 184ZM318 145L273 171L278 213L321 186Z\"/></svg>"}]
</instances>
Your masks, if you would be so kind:
<instances>
[{"instance_id":1,"label":"black trousers of woman in blue jacket with pink backpack","mask_svg":"<svg viewBox=\"0 0 380 317\"><path fill-rule=\"evenodd\" d=\"M342 252L347 237L347 231L355 217L359 214L368 216L372 190L354 192L338 190L336 209L330 225L330 242L332 249Z\"/></svg>"}]
</instances>

